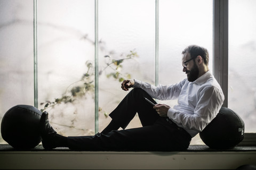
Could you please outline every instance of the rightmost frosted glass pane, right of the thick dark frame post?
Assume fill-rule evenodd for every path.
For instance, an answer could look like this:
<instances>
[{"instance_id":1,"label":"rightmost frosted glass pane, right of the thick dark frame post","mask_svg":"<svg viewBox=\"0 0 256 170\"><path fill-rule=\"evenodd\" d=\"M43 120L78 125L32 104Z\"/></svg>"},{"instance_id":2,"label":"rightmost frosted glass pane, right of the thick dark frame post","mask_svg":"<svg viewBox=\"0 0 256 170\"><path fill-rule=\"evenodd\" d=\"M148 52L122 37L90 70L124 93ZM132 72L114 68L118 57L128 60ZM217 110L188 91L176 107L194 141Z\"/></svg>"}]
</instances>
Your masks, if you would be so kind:
<instances>
[{"instance_id":1,"label":"rightmost frosted glass pane, right of the thick dark frame post","mask_svg":"<svg viewBox=\"0 0 256 170\"><path fill-rule=\"evenodd\" d=\"M256 132L256 1L229 1L228 107Z\"/></svg>"}]
</instances>

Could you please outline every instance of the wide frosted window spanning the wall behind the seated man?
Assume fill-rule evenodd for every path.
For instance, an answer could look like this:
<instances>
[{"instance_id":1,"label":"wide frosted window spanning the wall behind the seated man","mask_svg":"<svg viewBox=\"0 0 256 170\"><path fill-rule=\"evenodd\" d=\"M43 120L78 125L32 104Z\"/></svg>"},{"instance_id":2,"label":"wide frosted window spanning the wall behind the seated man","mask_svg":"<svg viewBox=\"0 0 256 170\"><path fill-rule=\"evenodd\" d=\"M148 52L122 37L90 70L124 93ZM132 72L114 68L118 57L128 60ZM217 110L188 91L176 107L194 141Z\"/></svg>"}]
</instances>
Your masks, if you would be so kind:
<instances>
[{"instance_id":1,"label":"wide frosted window spanning the wall behind the seated man","mask_svg":"<svg viewBox=\"0 0 256 170\"><path fill-rule=\"evenodd\" d=\"M49 112L52 125L63 135L93 135L103 130L110 121L108 114L127 94L119 88L123 79L153 84L185 79L181 52L191 44L209 50L213 71L213 4L212 0L38 1L34 39L33 1L0 1L0 118L12 106L34 105L38 99L38 108ZM252 4L246 0L229 5L228 106L245 121L245 132L255 132L247 126L255 122L256 84L251 81L255 74L243 72L256 64ZM238 6L243 7L241 14ZM34 99L35 40L38 97ZM247 102L237 107L241 90ZM127 128L140 125L135 117ZM198 136L193 140L192 144L202 143ZM0 143L4 143L2 138Z\"/></svg>"}]
</instances>

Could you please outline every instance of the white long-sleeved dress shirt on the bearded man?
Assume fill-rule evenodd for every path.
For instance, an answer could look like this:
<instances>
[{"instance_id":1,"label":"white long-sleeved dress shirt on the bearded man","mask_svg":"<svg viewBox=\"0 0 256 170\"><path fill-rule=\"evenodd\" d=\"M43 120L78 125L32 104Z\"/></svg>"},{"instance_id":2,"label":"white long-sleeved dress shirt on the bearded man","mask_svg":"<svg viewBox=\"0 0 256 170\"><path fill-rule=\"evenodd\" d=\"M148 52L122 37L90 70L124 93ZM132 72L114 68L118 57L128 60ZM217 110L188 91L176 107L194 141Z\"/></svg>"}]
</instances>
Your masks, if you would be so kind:
<instances>
[{"instance_id":1,"label":"white long-sleeved dress shirt on the bearded man","mask_svg":"<svg viewBox=\"0 0 256 170\"><path fill-rule=\"evenodd\" d=\"M178 105L170 108L167 116L179 127L185 129L191 137L201 132L215 116L217 116L224 95L217 80L210 71L194 82L187 79L176 83L157 87L150 83L134 80L134 88L141 88L158 100L178 98Z\"/></svg>"}]
</instances>

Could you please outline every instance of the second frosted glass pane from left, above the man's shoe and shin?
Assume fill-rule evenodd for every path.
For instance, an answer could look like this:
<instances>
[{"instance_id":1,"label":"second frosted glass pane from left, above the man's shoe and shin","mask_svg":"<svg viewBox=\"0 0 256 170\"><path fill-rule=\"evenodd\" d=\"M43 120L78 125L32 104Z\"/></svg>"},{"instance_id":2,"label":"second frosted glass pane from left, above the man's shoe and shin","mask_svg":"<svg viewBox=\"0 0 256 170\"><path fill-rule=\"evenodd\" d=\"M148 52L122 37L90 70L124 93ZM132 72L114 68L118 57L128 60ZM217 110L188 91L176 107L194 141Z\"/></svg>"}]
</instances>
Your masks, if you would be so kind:
<instances>
[{"instance_id":1,"label":"second frosted glass pane from left, above the man's shoe and shin","mask_svg":"<svg viewBox=\"0 0 256 170\"><path fill-rule=\"evenodd\" d=\"M39 1L38 106L63 135L94 134L93 64L94 1Z\"/></svg>"}]
</instances>

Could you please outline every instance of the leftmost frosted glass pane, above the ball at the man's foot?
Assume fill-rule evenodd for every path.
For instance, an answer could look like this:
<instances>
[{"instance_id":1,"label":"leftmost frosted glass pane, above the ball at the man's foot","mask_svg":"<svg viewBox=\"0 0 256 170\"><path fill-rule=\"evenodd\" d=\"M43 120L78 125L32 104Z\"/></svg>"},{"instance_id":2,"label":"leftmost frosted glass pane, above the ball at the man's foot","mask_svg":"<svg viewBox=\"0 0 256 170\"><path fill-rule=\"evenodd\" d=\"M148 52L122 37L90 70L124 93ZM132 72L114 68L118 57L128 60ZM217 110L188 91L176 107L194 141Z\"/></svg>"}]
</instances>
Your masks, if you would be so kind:
<instances>
[{"instance_id":1,"label":"leftmost frosted glass pane, above the ball at the man's foot","mask_svg":"<svg viewBox=\"0 0 256 170\"><path fill-rule=\"evenodd\" d=\"M2 121L11 107L34 105L33 1L0 1L0 39Z\"/></svg>"}]
</instances>

